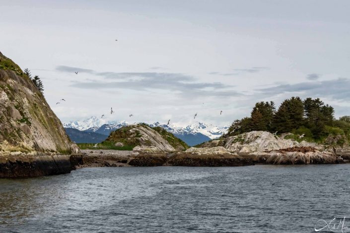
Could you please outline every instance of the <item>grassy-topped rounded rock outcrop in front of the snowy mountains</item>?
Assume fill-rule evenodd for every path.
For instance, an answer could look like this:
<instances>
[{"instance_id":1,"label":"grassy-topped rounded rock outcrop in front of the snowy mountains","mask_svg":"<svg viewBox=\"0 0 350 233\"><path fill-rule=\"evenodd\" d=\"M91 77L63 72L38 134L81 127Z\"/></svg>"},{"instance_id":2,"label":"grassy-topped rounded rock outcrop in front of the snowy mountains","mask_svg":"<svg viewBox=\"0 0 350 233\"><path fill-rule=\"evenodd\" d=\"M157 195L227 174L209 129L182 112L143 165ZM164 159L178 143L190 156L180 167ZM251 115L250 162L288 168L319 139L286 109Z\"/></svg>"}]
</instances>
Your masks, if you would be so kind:
<instances>
[{"instance_id":1,"label":"grassy-topped rounded rock outcrop in front of the snowy mountains","mask_svg":"<svg viewBox=\"0 0 350 233\"><path fill-rule=\"evenodd\" d=\"M151 128L146 124L128 125L117 129L106 141L114 145L133 146L134 151L144 153L169 153L188 148L186 143L166 130Z\"/></svg>"}]
</instances>

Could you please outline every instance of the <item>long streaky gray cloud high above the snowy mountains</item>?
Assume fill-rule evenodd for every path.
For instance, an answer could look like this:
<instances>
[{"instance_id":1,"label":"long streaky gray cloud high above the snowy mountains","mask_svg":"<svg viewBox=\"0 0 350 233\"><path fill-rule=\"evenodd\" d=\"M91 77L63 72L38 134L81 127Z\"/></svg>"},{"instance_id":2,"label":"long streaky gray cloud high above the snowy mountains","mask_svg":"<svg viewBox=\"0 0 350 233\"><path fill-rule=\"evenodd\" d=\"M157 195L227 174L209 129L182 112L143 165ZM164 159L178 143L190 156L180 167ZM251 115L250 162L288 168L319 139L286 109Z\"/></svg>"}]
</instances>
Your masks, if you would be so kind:
<instances>
[{"instance_id":1,"label":"long streaky gray cloud high above the snowy mountains","mask_svg":"<svg viewBox=\"0 0 350 233\"><path fill-rule=\"evenodd\" d=\"M103 77L103 80L73 81L71 86L83 89L130 89L145 91L151 89L169 90L186 96L239 96L232 88L220 82L198 82L196 78L182 73L165 72L97 72L77 67L58 66L57 70L71 72L78 70Z\"/></svg>"}]
</instances>

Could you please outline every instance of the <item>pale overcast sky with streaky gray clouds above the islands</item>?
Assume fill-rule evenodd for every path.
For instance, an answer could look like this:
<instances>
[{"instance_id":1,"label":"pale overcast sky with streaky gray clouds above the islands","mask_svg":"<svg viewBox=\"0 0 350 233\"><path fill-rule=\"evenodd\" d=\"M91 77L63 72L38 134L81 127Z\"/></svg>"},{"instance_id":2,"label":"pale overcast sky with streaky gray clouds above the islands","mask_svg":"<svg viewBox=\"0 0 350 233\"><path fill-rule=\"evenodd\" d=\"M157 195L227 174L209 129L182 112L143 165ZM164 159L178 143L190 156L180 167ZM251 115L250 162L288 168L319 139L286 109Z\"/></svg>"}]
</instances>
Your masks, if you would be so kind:
<instances>
[{"instance_id":1,"label":"pale overcast sky with streaky gray clouds above the islands","mask_svg":"<svg viewBox=\"0 0 350 233\"><path fill-rule=\"evenodd\" d=\"M0 0L0 9L0 51L41 77L64 122L105 114L187 125L198 113L223 126L257 101L296 95L350 115L348 0Z\"/></svg>"}]
</instances>

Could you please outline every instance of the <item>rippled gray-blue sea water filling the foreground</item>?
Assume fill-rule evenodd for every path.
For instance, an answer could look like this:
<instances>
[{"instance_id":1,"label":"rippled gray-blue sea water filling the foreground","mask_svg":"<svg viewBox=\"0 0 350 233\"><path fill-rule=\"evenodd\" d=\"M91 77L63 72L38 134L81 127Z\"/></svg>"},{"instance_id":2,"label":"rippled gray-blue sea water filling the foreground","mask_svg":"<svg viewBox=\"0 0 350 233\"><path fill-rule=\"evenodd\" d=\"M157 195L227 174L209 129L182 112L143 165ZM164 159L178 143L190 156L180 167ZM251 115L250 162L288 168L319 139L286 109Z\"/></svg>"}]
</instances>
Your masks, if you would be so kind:
<instances>
[{"instance_id":1,"label":"rippled gray-blue sea water filling the foreground","mask_svg":"<svg viewBox=\"0 0 350 233\"><path fill-rule=\"evenodd\" d=\"M349 181L350 164L84 168L0 179L0 232L350 232Z\"/></svg>"}]
</instances>

